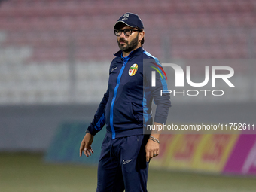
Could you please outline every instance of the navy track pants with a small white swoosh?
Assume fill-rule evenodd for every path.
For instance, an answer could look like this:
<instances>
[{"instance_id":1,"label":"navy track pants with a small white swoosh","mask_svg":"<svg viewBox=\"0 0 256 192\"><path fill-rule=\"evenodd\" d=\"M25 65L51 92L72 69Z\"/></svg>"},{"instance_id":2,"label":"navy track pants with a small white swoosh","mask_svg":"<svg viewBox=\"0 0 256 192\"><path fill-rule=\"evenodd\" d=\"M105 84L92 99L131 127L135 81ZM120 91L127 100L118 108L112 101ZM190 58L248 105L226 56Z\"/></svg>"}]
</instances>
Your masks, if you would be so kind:
<instances>
[{"instance_id":1,"label":"navy track pants with a small white swoosh","mask_svg":"<svg viewBox=\"0 0 256 192\"><path fill-rule=\"evenodd\" d=\"M105 136L98 165L97 192L146 192L147 135L111 139Z\"/></svg>"}]
</instances>

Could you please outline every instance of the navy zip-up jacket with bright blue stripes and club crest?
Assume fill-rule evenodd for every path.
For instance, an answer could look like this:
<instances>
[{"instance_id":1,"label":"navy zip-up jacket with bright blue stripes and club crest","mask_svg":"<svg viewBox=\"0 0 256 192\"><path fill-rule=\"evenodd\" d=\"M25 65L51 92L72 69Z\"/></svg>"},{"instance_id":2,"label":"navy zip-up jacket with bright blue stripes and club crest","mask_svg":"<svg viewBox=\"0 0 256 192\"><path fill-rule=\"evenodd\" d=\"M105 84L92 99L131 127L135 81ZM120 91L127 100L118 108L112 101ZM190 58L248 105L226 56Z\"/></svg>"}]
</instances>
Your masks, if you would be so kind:
<instances>
[{"instance_id":1,"label":"navy zip-up jacket with bright blue stripes and club crest","mask_svg":"<svg viewBox=\"0 0 256 192\"><path fill-rule=\"evenodd\" d=\"M152 124L151 103L157 105L154 122L166 123L171 102L166 76L160 62L139 47L123 57L122 51L114 54L108 78L108 90L87 129L93 136L106 125L107 136L112 139L143 134L143 127ZM152 86L152 71L155 71Z\"/></svg>"}]
</instances>

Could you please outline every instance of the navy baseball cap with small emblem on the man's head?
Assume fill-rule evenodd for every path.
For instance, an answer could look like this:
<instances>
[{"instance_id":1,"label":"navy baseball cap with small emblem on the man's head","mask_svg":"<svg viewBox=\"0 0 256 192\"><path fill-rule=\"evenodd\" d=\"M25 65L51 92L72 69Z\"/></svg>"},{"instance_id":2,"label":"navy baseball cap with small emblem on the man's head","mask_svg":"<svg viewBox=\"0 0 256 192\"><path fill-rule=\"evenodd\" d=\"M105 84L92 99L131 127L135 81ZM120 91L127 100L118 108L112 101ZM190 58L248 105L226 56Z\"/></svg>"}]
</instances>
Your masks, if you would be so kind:
<instances>
[{"instance_id":1,"label":"navy baseball cap with small emblem on the man's head","mask_svg":"<svg viewBox=\"0 0 256 192\"><path fill-rule=\"evenodd\" d=\"M137 14L133 14L133 13L123 14L119 18L119 20L117 20L117 23L114 24L114 29L118 29L120 23L124 23L126 24L126 26L138 27L139 29L144 29L142 20L139 18Z\"/></svg>"}]
</instances>

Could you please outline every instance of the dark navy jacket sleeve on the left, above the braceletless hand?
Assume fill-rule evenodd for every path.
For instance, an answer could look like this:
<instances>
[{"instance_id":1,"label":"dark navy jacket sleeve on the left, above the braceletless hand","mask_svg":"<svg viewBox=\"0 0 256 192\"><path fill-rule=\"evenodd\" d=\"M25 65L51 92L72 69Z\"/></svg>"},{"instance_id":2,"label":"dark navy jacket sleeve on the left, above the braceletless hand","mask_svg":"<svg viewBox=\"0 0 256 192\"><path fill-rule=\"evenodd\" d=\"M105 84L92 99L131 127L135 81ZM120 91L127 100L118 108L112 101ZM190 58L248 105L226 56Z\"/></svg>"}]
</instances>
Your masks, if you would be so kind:
<instances>
[{"instance_id":1,"label":"dark navy jacket sleeve on the left, above the braceletless hand","mask_svg":"<svg viewBox=\"0 0 256 192\"><path fill-rule=\"evenodd\" d=\"M86 133L90 133L93 136L96 135L102 127L105 125L105 105L108 102L108 90L104 94L102 101L99 103L99 107L94 115L93 121L88 126Z\"/></svg>"}]
</instances>

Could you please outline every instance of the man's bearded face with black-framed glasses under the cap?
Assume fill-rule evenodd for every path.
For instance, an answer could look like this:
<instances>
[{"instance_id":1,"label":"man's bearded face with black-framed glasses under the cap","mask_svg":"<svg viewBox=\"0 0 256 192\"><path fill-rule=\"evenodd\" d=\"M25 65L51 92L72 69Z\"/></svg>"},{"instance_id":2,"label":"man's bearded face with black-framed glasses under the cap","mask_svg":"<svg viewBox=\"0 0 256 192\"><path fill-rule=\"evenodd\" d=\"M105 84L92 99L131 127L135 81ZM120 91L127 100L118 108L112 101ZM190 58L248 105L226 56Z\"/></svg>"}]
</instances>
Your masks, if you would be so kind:
<instances>
[{"instance_id":1,"label":"man's bearded face with black-framed glasses under the cap","mask_svg":"<svg viewBox=\"0 0 256 192\"><path fill-rule=\"evenodd\" d=\"M130 26L124 26L121 28L121 30L124 30L124 29L135 29L135 28L132 28ZM124 32L122 32L121 35L117 37L118 47L123 52L130 53L132 50L135 50L136 47L138 47L138 44L139 44L138 36L139 36L139 32L132 32L132 34L129 36L124 35Z\"/></svg>"}]
</instances>

